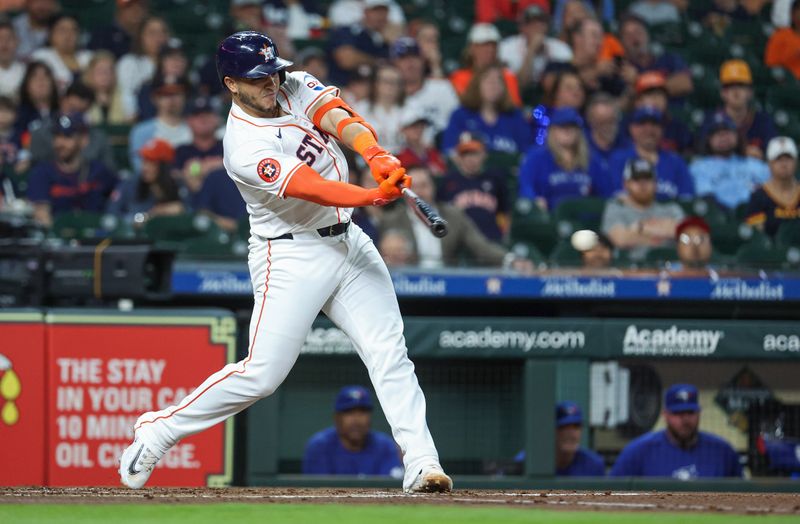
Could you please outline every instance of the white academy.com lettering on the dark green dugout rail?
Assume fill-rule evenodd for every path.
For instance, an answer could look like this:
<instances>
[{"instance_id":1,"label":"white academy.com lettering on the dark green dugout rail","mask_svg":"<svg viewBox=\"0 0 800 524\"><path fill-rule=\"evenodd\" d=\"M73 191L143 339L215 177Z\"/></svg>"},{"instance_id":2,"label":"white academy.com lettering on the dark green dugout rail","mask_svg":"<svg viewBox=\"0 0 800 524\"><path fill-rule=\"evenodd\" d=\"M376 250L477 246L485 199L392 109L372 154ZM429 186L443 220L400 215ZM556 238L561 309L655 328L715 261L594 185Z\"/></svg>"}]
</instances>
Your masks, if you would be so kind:
<instances>
[{"instance_id":1,"label":"white academy.com lettering on the dark green dugout rail","mask_svg":"<svg viewBox=\"0 0 800 524\"><path fill-rule=\"evenodd\" d=\"M439 333L439 347L446 349L582 349L586 346L583 331L512 331L487 326L481 330Z\"/></svg>"}]
</instances>

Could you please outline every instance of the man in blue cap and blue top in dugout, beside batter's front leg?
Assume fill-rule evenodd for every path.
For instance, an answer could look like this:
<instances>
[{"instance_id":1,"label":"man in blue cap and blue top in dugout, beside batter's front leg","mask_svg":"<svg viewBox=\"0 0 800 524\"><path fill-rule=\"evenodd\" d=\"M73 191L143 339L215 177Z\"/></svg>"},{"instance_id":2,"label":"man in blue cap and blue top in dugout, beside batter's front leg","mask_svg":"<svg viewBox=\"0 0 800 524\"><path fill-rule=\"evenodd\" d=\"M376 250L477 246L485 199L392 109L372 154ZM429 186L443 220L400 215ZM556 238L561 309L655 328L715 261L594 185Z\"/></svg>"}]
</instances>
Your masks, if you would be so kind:
<instances>
[{"instance_id":1,"label":"man in blue cap and blue top in dugout, beside batter's front leg","mask_svg":"<svg viewBox=\"0 0 800 524\"><path fill-rule=\"evenodd\" d=\"M306 475L402 477L400 451L389 435L374 431L372 396L363 386L345 386L336 395L334 425L306 444Z\"/></svg>"}]
</instances>

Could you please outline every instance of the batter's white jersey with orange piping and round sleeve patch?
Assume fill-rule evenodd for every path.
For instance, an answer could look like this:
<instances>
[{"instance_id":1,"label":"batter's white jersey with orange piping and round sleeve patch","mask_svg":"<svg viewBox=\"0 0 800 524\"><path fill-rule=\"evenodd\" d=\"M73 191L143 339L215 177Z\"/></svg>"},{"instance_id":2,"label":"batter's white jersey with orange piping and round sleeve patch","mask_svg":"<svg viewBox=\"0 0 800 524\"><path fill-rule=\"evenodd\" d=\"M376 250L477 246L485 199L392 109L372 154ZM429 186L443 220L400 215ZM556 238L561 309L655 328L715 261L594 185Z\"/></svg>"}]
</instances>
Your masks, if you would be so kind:
<instances>
[{"instance_id":1,"label":"batter's white jersey with orange piping and round sleeve patch","mask_svg":"<svg viewBox=\"0 0 800 524\"><path fill-rule=\"evenodd\" d=\"M347 161L329 135L314 127L308 110L324 95L339 95L304 71L286 74L277 101L286 116L255 118L235 103L228 114L223 163L250 214L250 230L275 238L350 220L351 208L286 198L284 191L302 163L327 180L348 181Z\"/></svg>"}]
</instances>

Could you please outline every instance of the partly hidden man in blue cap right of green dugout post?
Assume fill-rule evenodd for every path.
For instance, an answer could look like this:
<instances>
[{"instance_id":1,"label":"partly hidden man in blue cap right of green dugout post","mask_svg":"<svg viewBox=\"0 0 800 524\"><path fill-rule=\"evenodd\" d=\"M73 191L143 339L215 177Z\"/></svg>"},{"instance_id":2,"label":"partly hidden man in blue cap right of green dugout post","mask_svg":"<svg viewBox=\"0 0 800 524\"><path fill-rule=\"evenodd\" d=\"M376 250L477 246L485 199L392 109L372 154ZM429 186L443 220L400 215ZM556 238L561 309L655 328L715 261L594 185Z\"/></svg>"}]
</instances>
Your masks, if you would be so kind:
<instances>
[{"instance_id":1,"label":"partly hidden man in blue cap right of green dugout post","mask_svg":"<svg viewBox=\"0 0 800 524\"><path fill-rule=\"evenodd\" d=\"M571 400L556 404L556 475L559 477L602 477L606 474L603 457L581 447L583 414ZM514 457L525 461L525 452Z\"/></svg>"}]
</instances>

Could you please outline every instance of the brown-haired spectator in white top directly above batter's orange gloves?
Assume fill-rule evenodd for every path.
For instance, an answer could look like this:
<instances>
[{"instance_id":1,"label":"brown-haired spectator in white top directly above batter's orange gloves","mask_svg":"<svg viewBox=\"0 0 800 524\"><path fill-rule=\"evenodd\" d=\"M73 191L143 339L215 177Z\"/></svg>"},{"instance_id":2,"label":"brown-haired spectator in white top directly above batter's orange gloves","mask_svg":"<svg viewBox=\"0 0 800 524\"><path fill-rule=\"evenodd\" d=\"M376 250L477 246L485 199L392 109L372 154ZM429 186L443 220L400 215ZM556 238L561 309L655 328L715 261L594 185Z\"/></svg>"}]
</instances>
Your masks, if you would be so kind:
<instances>
[{"instance_id":1,"label":"brown-haired spectator in white top directly above batter's orange gloves","mask_svg":"<svg viewBox=\"0 0 800 524\"><path fill-rule=\"evenodd\" d=\"M403 79L396 67L391 64L378 66L372 78L369 99L358 102L353 108L375 128L378 140L387 151L400 151Z\"/></svg>"}]
</instances>

